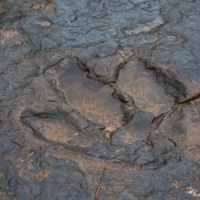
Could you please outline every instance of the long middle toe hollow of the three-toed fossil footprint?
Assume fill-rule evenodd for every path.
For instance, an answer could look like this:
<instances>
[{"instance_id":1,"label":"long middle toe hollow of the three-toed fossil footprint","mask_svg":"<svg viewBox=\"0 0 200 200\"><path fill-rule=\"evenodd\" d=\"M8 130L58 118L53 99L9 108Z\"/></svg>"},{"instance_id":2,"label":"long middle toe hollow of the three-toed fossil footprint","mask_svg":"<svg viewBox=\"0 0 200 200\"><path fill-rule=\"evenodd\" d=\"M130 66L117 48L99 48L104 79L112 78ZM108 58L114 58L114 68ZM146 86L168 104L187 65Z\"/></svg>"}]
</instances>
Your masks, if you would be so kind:
<instances>
[{"instance_id":1,"label":"long middle toe hollow of the three-toed fossil footprint","mask_svg":"<svg viewBox=\"0 0 200 200\"><path fill-rule=\"evenodd\" d=\"M116 130L124 115L121 102L113 98L109 85L86 77L75 62L63 60L58 67L47 70L64 91L68 103L88 119ZM48 75L46 74L46 77Z\"/></svg>"}]
</instances>

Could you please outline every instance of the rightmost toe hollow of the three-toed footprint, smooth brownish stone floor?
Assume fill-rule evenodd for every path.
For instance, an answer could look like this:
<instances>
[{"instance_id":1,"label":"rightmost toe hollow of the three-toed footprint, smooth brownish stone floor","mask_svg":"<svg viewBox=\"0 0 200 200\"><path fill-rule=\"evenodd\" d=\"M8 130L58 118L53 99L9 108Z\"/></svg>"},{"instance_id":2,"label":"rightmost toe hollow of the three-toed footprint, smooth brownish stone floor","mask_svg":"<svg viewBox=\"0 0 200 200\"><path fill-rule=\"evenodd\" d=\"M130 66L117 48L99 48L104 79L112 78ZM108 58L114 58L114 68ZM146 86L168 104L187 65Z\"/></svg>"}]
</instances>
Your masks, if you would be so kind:
<instances>
[{"instance_id":1,"label":"rightmost toe hollow of the three-toed footprint, smooth brownish stone floor","mask_svg":"<svg viewBox=\"0 0 200 200\"><path fill-rule=\"evenodd\" d=\"M173 98L165 94L143 63L130 61L120 71L117 85L132 96L138 108L155 116L167 112L173 105Z\"/></svg>"}]
</instances>

